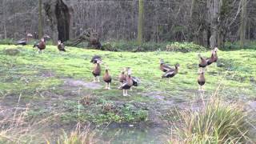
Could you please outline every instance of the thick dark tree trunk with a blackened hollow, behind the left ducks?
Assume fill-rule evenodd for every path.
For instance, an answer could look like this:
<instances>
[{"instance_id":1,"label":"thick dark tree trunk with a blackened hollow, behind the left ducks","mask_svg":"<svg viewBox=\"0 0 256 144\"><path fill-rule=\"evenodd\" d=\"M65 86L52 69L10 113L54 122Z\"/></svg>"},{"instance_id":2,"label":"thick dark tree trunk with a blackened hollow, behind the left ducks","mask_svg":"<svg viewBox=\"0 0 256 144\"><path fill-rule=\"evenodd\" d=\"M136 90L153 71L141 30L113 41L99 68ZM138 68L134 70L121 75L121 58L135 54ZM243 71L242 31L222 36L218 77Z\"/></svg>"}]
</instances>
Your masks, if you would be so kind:
<instances>
[{"instance_id":1,"label":"thick dark tree trunk with a blackened hollow, behind the left ducks","mask_svg":"<svg viewBox=\"0 0 256 144\"><path fill-rule=\"evenodd\" d=\"M54 42L61 40L65 42L71 37L71 22L73 12L73 2L67 0L46 0L44 9L50 20L50 28Z\"/></svg>"}]
</instances>

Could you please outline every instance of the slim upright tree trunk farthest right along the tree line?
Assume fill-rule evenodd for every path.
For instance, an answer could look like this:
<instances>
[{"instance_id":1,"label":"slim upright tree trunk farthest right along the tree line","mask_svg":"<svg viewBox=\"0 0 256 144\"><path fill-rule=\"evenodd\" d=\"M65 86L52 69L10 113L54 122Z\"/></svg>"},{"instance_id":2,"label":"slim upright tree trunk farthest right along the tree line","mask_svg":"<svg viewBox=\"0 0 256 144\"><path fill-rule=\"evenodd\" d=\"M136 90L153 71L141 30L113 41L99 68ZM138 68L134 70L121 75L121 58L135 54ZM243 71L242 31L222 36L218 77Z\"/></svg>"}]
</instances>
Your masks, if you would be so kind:
<instances>
[{"instance_id":1,"label":"slim upright tree trunk farthest right along the tree line","mask_svg":"<svg viewBox=\"0 0 256 144\"><path fill-rule=\"evenodd\" d=\"M242 14L241 14L241 25L240 25L240 46L244 48L246 41L246 12L247 12L247 1L242 0Z\"/></svg>"}]
</instances>

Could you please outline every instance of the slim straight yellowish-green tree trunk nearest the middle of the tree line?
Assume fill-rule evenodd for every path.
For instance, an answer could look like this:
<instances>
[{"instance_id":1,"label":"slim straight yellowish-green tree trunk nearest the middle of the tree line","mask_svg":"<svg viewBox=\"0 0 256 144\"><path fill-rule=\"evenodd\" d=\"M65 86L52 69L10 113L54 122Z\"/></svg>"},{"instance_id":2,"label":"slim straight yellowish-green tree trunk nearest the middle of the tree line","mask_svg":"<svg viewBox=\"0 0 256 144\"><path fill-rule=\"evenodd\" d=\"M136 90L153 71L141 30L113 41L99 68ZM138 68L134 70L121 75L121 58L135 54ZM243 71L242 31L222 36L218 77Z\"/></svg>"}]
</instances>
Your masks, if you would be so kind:
<instances>
[{"instance_id":1,"label":"slim straight yellowish-green tree trunk nearest the middle of the tree line","mask_svg":"<svg viewBox=\"0 0 256 144\"><path fill-rule=\"evenodd\" d=\"M138 46L142 46L143 41L143 15L144 15L144 0L139 0L138 5Z\"/></svg>"}]
</instances>

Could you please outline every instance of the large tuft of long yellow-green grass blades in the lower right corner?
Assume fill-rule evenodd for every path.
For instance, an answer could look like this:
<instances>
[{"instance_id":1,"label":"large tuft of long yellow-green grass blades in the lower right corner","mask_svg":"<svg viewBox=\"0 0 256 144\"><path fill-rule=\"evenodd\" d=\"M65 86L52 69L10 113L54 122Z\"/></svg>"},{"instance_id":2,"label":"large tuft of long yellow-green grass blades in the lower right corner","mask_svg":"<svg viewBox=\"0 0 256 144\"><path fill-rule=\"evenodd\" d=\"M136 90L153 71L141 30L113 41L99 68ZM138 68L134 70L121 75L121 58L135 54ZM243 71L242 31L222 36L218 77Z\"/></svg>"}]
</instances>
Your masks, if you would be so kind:
<instances>
[{"instance_id":1,"label":"large tuft of long yellow-green grass blades in the lower right corner","mask_svg":"<svg viewBox=\"0 0 256 144\"><path fill-rule=\"evenodd\" d=\"M183 113L181 118L176 129L182 143L250 142L248 114L242 105L212 98L201 110Z\"/></svg>"}]
</instances>

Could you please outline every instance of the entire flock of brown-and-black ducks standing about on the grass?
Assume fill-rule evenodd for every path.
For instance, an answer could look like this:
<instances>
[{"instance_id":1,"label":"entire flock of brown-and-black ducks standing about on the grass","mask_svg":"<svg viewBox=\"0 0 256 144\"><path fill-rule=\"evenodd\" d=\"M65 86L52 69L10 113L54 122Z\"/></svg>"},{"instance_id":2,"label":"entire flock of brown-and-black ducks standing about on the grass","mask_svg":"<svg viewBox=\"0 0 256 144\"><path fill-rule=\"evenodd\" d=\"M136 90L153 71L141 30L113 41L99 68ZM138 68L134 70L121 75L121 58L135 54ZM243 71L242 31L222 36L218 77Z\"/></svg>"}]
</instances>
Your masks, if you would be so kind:
<instances>
[{"instance_id":1,"label":"entire flock of brown-and-black ducks standing about on the grass","mask_svg":"<svg viewBox=\"0 0 256 144\"><path fill-rule=\"evenodd\" d=\"M30 34L27 35L28 38L30 38ZM28 38L25 40L20 40L17 42L18 45L26 45L26 42L28 41ZM44 35L43 38L37 43L34 44L33 47L38 48L38 54L39 52L42 52L43 50L46 49L46 40L49 39L50 37L48 35ZM57 45L58 50L61 52L65 52L65 45L61 42L58 41ZM198 54L199 58L199 64L198 64L198 85L199 85L199 91L204 91L204 85L206 83L206 78L205 78L205 72L206 72L206 67L210 66L212 63L218 61L218 55L217 55L218 48L215 47L214 50L211 51L211 56L210 58L203 58L201 54ZM98 55L95 55L91 61L94 63L94 68L92 71L92 74L94 75L94 82L100 82L99 76L101 75L101 64L102 58ZM170 83L170 78L173 78L176 74L178 74L178 69L179 69L179 64L175 64L174 67L171 67L167 65L162 59L160 60L160 70L164 72L162 74L162 78L168 78L168 82ZM128 96L128 90L132 90L132 86L138 86L140 80L136 77L131 76L131 69L130 67L126 67L122 69L121 74L118 77L118 81L120 82L120 86L118 89L123 90L123 96ZM105 74L103 75L103 81L106 82L106 89L110 89L110 83L112 82L112 78L109 72L108 66L106 66Z\"/></svg>"}]
</instances>

